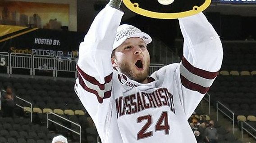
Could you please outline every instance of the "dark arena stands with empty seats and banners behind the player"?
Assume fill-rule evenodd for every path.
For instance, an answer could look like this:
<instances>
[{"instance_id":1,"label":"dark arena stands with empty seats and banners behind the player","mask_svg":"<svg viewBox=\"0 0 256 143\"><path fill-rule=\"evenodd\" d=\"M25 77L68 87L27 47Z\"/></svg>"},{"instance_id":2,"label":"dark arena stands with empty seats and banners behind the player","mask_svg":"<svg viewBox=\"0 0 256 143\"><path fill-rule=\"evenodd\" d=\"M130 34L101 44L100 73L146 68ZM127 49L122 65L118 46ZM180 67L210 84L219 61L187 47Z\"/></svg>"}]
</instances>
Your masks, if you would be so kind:
<instances>
[{"instance_id":1,"label":"dark arena stands with empty seats and banners behind the player","mask_svg":"<svg viewBox=\"0 0 256 143\"><path fill-rule=\"evenodd\" d=\"M0 0L0 90L17 95L14 116L0 116L0 143L100 143L73 91L78 47L107 0ZM37 9L27 9L36 7ZM61 9L60 9L61 8ZM179 63L178 20L146 18L128 10L122 23L153 37L150 72ZM193 119L215 121L218 143L256 143L256 1L212 0L204 12L218 32L223 65ZM203 131L201 132L204 138Z\"/></svg>"}]
</instances>

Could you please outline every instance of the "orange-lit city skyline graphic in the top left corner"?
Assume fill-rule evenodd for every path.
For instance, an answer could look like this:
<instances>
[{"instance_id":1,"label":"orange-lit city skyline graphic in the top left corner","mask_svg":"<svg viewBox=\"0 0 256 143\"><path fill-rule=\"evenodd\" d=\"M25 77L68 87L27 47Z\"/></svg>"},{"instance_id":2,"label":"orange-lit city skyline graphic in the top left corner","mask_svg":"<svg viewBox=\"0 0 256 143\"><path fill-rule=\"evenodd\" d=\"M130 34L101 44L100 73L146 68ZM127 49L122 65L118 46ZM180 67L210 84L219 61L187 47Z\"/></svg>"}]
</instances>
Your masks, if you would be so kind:
<instances>
[{"instance_id":1,"label":"orange-lit city skyline graphic in the top left corner","mask_svg":"<svg viewBox=\"0 0 256 143\"><path fill-rule=\"evenodd\" d=\"M60 30L69 26L69 4L1 0L0 24Z\"/></svg>"}]
</instances>

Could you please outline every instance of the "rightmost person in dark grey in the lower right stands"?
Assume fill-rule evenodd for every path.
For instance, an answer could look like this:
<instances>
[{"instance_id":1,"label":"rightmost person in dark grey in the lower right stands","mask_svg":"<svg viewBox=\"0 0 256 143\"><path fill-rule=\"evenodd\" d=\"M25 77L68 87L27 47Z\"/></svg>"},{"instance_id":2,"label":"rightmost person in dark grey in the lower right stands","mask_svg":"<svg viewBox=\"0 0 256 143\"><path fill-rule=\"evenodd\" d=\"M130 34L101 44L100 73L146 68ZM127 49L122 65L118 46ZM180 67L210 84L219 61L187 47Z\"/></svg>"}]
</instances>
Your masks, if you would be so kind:
<instances>
[{"instance_id":1,"label":"rightmost person in dark grey in the lower right stands","mask_svg":"<svg viewBox=\"0 0 256 143\"><path fill-rule=\"evenodd\" d=\"M218 143L218 133L214 127L214 121L209 121L209 127L206 128L205 135L208 143Z\"/></svg>"}]
</instances>

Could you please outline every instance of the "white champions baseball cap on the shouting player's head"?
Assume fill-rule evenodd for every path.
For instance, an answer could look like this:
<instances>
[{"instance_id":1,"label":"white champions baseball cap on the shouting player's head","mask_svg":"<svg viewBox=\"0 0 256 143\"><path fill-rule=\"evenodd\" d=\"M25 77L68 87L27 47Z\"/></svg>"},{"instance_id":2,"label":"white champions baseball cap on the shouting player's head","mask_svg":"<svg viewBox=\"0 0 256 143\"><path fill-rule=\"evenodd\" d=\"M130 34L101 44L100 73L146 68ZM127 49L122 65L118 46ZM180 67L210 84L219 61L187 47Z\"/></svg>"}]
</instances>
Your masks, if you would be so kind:
<instances>
[{"instance_id":1,"label":"white champions baseball cap on the shouting player's head","mask_svg":"<svg viewBox=\"0 0 256 143\"><path fill-rule=\"evenodd\" d=\"M152 41L152 38L148 34L142 32L137 27L128 24L122 24L117 28L113 50L122 45L125 40L132 37L141 38L145 41L146 44L149 44Z\"/></svg>"}]
</instances>

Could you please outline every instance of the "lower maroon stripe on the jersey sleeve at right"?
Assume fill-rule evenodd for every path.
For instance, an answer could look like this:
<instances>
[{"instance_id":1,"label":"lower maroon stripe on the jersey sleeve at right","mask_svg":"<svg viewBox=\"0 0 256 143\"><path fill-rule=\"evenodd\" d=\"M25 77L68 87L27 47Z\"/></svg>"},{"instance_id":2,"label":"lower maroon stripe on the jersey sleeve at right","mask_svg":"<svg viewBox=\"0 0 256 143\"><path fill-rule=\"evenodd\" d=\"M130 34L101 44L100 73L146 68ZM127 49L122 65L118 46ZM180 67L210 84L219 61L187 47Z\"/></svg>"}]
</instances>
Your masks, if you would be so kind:
<instances>
[{"instance_id":1,"label":"lower maroon stripe on the jersey sleeve at right","mask_svg":"<svg viewBox=\"0 0 256 143\"><path fill-rule=\"evenodd\" d=\"M201 94L206 94L210 87L206 88L201 85L197 85L189 80L187 80L184 76L180 75L181 83L187 89L198 91Z\"/></svg>"}]
</instances>

